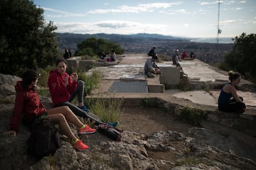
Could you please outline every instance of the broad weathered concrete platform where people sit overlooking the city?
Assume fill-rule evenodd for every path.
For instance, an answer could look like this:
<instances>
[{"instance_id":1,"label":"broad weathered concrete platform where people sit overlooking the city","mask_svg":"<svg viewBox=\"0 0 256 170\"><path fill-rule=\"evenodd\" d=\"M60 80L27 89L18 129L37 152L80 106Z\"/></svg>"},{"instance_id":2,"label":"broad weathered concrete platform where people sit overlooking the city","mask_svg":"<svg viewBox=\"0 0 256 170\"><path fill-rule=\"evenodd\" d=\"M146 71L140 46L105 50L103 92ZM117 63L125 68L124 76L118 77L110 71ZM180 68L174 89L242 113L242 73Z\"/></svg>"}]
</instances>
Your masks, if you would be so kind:
<instances>
[{"instance_id":1,"label":"broad weathered concrete platform where people sit overlooking the city","mask_svg":"<svg viewBox=\"0 0 256 170\"><path fill-rule=\"evenodd\" d=\"M143 75L142 70L147 59L148 56L145 54L125 54L117 65L88 70L87 73L90 74L93 70L98 69L103 75L101 89L96 89L92 93L97 95L100 91L101 94L107 94L114 81L147 81L148 85L151 85L153 89L149 86L146 94L118 93L115 96L125 99L126 103L132 103L132 105L141 105L145 98L152 100L161 98L170 102L178 101L183 105L186 105L187 101L187 103L205 105L216 110L220 89L225 83L228 83L228 73L226 71L212 67L197 59L184 60L181 65L185 73L187 73L189 84L194 91L180 91L177 88L165 89L164 84L160 83L160 76L147 78ZM171 61L158 62L157 65L163 70L164 68L174 68ZM171 75L172 73L170 71L169 74ZM244 79L239 84L239 88L242 90L248 87L251 89L253 86L255 86L253 83ZM244 97L248 108L246 112L249 115L256 115L255 92L238 90L237 93Z\"/></svg>"}]
</instances>

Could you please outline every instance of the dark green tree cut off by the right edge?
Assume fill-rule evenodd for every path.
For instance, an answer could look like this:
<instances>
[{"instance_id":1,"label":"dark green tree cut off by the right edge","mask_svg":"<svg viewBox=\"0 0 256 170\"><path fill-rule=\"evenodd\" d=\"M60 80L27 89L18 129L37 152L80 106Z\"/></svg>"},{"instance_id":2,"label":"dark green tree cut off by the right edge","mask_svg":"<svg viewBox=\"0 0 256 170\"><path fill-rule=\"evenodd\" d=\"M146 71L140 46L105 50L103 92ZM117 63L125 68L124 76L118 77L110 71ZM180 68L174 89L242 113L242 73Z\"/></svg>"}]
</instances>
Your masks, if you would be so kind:
<instances>
[{"instance_id":1,"label":"dark green tree cut off by the right edge","mask_svg":"<svg viewBox=\"0 0 256 170\"><path fill-rule=\"evenodd\" d=\"M233 41L233 50L225 56L224 63L231 70L241 73L245 79L255 80L256 34L242 33L233 38Z\"/></svg>"}]
</instances>

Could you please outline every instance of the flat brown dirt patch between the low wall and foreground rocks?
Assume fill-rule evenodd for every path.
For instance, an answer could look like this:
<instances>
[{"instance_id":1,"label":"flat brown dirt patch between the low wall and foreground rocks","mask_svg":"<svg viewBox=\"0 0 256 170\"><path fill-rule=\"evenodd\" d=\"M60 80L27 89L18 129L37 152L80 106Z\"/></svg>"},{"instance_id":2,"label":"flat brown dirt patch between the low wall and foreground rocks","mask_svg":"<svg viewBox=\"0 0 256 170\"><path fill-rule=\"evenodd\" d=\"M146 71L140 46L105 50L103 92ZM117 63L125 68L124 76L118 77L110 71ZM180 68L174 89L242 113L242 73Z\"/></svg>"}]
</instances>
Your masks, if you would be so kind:
<instances>
[{"instance_id":1,"label":"flat brown dirt patch between the low wall and foreground rocks","mask_svg":"<svg viewBox=\"0 0 256 170\"><path fill-rule=\"evenodd\" d=\"M148 134L156 131L177 131L186 134L192 127L179 123L171 113L159 108L126 107L123 108L121 128L127 131Z\"/></svg>"}]
</instances>

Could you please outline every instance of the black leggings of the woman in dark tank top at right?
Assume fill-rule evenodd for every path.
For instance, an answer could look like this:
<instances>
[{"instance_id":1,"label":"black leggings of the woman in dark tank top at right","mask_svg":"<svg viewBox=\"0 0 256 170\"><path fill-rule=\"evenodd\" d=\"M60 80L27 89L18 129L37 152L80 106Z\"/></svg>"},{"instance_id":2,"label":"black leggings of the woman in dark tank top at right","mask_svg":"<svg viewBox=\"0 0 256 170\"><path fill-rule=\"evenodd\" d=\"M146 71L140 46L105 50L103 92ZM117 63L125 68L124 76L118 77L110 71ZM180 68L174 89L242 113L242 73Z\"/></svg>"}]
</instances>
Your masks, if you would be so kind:
<instances>
[{"instance_id":1,"label":"black leggings of the woman in dark tank top at right","mask_svg":"<svg viewBox=\"0 0 256 170\"><path fill-rule=\"evenodd\" d=\"M239 99L244 101L242 97L239 97ZM246 106L244 103L236 102L235 99L231 99L228 104L221 104L221 103L218 104L218 109L226 112L241 111L242 109L245 109L245 108Z\"/></svg>"}]
</instances>

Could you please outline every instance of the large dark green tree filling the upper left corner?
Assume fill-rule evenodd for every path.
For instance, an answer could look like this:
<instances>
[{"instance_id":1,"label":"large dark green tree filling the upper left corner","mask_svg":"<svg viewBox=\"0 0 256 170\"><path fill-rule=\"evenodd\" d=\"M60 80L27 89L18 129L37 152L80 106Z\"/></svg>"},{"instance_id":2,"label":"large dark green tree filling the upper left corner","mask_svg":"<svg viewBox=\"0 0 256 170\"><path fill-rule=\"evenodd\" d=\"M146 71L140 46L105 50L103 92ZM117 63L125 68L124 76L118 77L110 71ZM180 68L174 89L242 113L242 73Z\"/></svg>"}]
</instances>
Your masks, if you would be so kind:
<instances>
[{"instance_id":1,"label":"large dark green tree filling the upper left corner","mask_svg":"<svg viewBox=\"0 0 256 170\"><path fill-rule=\"evenodd\" d=\"M29 0L0 0L0 73L45 68L59 56L57 29Z\"/></svg>"}]
</instances>

